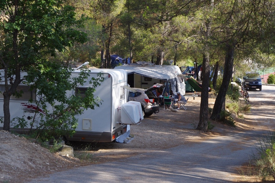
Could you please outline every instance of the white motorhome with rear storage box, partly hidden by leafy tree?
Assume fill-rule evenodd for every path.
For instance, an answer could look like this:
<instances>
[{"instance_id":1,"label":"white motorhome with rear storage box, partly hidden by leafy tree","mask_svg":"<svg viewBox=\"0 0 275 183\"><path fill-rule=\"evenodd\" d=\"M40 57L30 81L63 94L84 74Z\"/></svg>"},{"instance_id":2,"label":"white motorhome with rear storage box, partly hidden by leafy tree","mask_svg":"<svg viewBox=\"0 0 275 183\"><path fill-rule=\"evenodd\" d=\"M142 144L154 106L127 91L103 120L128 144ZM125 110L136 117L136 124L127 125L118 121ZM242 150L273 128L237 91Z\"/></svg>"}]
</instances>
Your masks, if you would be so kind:
<instances>
[{"instance_id":1,"label":"white motorhome with rear storage box, partly hidden by leafy tree","mask_svg":"<svg viewBox=\"0 0 275 183\"><path fill-rule=\"evenodd\" d=\"M90 81L92 77L97 78L98 73L104 74L105 80L96 88L94 93L94 96L98 96L102 100L102 104L99 107L95 106L94 109L85 110L82 115L77 117L76 133L67 140L112 142L119 136L123 136L123 134L130 134L129 125L139 124L143 116L140 102L127 102L129 94L127 90L127 72L118 69L89 69L88 72L89 78L87 81ZM77 77L79 73L80 70L74 70L72 77ZM3 70L0 70L0 74L3 76ZM89 82L86 82L80 90L83 91L89 86ZM28 100L31 97L35 99L35 91L29 91L28 86L24 84L20 84L18 89L23 90L24 94L20 98L11 97L9 104L11 119L16 117L25 117L26 120L31 119L37 106L28 102ZM4 90L4 82L1 81L0 91L3 92ZM75 91L68 91L67 95L75 95ZM0 93L0 106L3 106L2 93ZM43 111L40 112L43 113ZM0 110L0 118L4 118L3 110ZM2 128L3 124L0 124L0 129ZM28 128L20 129L20 131L24 130L26 131Z\"/></svg>"}]
</instances>

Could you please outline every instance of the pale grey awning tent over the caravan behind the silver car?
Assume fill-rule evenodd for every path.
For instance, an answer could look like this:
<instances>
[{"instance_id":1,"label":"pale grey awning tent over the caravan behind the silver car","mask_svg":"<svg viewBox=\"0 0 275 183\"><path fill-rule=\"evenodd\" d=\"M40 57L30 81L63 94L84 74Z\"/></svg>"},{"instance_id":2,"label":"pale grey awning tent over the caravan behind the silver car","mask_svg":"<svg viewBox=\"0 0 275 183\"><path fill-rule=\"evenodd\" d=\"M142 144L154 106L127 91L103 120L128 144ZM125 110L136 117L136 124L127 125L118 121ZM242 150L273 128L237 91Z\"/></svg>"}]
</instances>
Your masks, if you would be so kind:
<instances>
[{"instance_id":1,"label":"pale grey awning tent over the caravan behind the silver car","mask_svg":"<svg viewBox=\"0 0 275 183\"><path fill-rule=\"evenodd\" d=\"M129 82L133 82L135 85L133 88L142 88L142 81L140 77L139 81L130 81L130 74L138 74L145 77L156 78L159 80L167 81L166 88L163 90L164 92L173 91L173 93L179 91L182 95L185 94L185 77L181 73L181 70L178 66L175 65L141 65L141 64L127 64L122 66L116 66L115 69L123 69L127 71L128 74L128 84ZM137 77L135 77L137 78ZM135 80L133 78L132 80ZM153 81L152 81L153 82ZM136 86L137 84L140 86ZM159 83L159 82L156 82ZM153 84L151 84L152 86ZM150 87L151 87L150 86ZM148 87L149 88L149 87Z\"/></svg>"}]
</instances>

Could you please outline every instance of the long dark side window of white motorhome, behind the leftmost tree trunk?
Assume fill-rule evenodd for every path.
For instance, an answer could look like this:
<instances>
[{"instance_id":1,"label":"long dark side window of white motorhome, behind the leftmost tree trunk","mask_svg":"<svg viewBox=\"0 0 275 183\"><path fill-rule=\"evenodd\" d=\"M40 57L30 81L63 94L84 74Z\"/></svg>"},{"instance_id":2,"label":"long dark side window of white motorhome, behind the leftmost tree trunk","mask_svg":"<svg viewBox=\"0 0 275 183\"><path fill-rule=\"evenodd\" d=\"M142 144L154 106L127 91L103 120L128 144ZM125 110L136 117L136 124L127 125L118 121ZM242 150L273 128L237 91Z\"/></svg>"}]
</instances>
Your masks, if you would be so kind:
<instances>
[{"instance_id":1,"label":"long dark side window of white motorhome, behind the leftmost tree trunk","mask_svg":"<svg viewBox=\"0 0 275 183\"><path fill-rule=\"evenodd\" d=\"M0 91L1 91L1 93L0 93L0 99L4 99L3 92L5 91L5 85L0 85ZM35 100L35 97L36 97L35 96L35 90L31 91L31 89L30 89L29 86L18 86L16 88L16 91L18 93L20 93L22 91L23 92L21 94L22 96L19 97L19 98L16 98L15 96L12 95L10 97L11 100L27 100L27 101L30 100L30 99Z\"/></svg>"}]
</instances>

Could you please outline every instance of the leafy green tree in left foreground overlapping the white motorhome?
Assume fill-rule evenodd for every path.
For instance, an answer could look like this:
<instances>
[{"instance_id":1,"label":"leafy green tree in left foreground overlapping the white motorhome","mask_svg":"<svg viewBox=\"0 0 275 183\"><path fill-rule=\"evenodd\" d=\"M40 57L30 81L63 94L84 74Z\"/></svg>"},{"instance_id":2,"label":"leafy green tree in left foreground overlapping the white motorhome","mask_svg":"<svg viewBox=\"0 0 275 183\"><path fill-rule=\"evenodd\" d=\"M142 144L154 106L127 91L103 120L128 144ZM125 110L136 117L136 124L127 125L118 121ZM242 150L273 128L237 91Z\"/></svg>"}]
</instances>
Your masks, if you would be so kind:
<instances>
[{"instance_id":1,"label":"leafy green tree in left foreground overlapping the white motorhome","mask_svg":"<svg viewBox=\"0 0 275 183\"><path fill-rule=\"evenodd\" d=\"M41 69L42 73L45 69L49 71L51 68L46 66L48 60L45 59L47 55L55 56L57 51L64 52L75 42L86 41L87 34L79 30L82 28L84 17L80 16L76 20L75 9L63 0L1 1L0 10L1 17L5 17L1 19L0 25L0 33L3 35L0 37L0 67L5 70L5 83L9 83L3 92L5 99L9 99L10 95L21 95L20 92L16 92L17 86L25 80L21 72L37 72L38 69ZM41 63L45 64L44 68L39 66ZM59 78L64 77L66 73L58 70L52 75ZM68 84L64 82L64 85L59 85L59 93L53 89L58 84L55 83L55 78L46 78L50 78L49 83L47 84L43 78L39 88L41 92L47 93L47 89L54 92L50 96L52 99L49 99L53 104L54 98L64 95L62 90L68 87ZM3 81L2 76L0 79ZM9 110L5 110L8 108L5 101L7 100L4 100L4 115L7 116ZM9 130L9 127L10 119L5 118L3 129Z\"/></svg>"}]
</instances>

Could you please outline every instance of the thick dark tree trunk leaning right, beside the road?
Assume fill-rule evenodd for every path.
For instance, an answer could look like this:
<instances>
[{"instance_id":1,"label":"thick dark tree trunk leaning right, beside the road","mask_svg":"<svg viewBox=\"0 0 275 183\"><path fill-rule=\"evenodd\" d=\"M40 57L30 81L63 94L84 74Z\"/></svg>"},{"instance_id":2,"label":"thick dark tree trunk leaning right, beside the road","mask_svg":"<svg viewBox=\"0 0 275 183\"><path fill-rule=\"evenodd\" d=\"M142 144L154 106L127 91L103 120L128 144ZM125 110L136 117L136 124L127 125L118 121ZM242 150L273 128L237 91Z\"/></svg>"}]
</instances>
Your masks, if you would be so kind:
<instances>
[{"instance_id":1,"label":"thick dark tree trunk leaning right, beside the road","mask_svg":"<svg viewBox=\"0 0 275 183\"><path fill-rule=\"evenodd\" d=\"M234 44L227 45L222 85L217 95L217 98L215 100L213 111L210 117L212 120L219 120L220 112L222 111L222 109L223 110L225 109L226 91L229 86L229 81L230 81L230 78L232 75L232 69L233 69L234 47L235 47Z\"/></svg>"}]
</instances>

